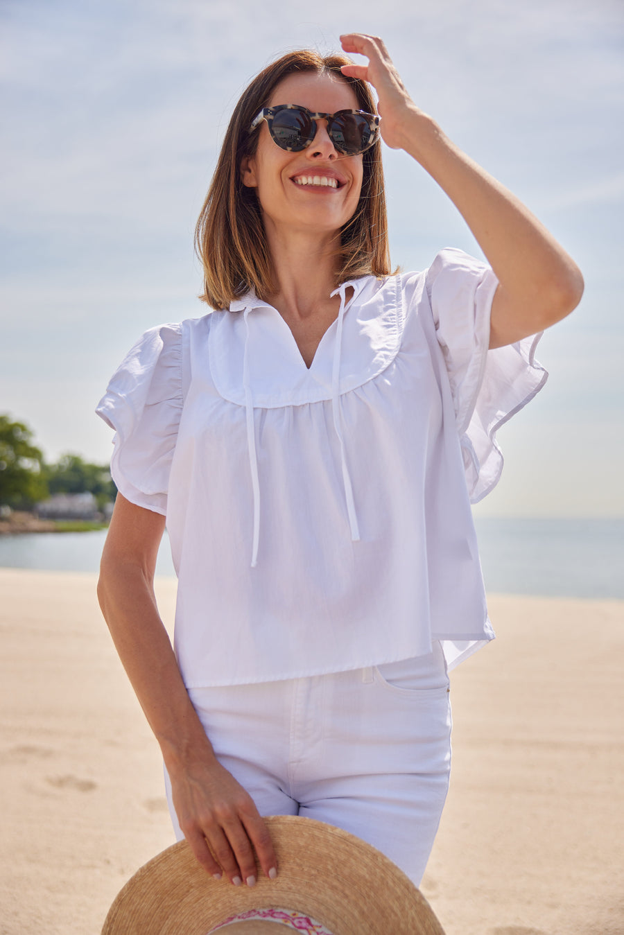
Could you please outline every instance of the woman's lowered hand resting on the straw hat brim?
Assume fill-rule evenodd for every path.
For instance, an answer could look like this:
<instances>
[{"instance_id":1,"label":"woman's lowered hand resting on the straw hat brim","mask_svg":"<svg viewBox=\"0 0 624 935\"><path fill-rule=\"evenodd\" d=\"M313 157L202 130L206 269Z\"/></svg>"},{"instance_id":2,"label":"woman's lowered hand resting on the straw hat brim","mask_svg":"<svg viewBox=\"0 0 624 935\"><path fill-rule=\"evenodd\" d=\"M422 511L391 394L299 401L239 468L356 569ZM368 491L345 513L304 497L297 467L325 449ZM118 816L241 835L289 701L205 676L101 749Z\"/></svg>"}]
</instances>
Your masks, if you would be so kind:
<instances>
[{"instance_id":1,"label":"woman's lowered hand resting on the straw hat brim","mask_svg":"<svg viewBox=\"0 0 624 935\"><path fill-rule=\"evenodd\" d=\"M173 804L184 837L197 860L219 879L253 886L254 850L262 870L273 880L277 860L268 828L254 800L223 767L209 744L194 752L193 765L168 769Z\"/></svg>"}]
</instances>

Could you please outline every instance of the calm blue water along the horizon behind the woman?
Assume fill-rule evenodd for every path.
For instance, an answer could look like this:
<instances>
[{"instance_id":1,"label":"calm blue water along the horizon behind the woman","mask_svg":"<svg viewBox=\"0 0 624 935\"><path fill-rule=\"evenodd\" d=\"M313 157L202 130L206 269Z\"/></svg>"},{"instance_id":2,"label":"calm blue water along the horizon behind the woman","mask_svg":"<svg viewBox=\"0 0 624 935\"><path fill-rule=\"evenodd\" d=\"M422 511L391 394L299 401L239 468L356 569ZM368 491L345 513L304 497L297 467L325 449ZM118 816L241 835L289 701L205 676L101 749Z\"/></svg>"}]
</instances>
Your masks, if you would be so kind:
<instances>
[{"instance_id":1,"label":"calm blue water along the horizon behind the woman","mask_svg":"<svg viewBox=\"0 0 624 935\"><path fill-rule=\"evenodd\" d=\"M476 521L486 588L624 599L624 519ZM97 571L106 531L0 537L0 567ZM156 573L174 576L167 537Z\"/></svg>"}]
</instances>

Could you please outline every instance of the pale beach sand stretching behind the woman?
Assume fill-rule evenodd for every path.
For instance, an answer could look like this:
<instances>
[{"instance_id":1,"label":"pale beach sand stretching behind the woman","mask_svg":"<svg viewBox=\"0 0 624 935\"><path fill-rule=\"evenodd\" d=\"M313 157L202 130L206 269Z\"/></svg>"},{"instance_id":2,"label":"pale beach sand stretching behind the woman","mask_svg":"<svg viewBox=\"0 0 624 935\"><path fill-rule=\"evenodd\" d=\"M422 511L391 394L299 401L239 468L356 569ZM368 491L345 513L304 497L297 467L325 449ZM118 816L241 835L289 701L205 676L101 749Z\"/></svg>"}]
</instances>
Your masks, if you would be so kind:
<instances>
[{"instance_id":1,"label":"pale beach sand stretching behind the woman","mask_svg":"<svg viewBox=\"0 0 624 935\"><path fill-rule=\"evenodd\" d=\"M175 583L157 595L170 623ZM489 604L423 893L446 935L621 935L624 602ZM0 933L98 935L173 842L158 747L93 575L0 569L0 640Z\"/></svg>"}]
</instances>

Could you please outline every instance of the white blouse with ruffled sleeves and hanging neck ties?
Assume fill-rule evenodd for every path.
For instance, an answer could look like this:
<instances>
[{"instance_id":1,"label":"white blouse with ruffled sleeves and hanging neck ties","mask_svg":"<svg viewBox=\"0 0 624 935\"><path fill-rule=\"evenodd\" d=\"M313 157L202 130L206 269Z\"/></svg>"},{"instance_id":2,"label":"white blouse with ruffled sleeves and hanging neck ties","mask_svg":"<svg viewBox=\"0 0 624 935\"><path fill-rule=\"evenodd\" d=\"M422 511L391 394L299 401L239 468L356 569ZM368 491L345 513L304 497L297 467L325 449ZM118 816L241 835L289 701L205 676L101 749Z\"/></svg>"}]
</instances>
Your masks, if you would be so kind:
<instances>
[{"instance_id":1,"label":"white blouse with ruffled sleeves and hanging neck ties","mask_svg":"<svg viewBox=\"0 0 624 935\"><path fill-rule=\"evenodd\" d=\"M253 294L138 340L97 412L123 496L167 516L187 687L432 640L450 669L493 639L470 502L501 475L498 427L547 376L540 336L487 351L497 284L457 250L345 282L310 368Z\"/></svg>"}]
</instances>

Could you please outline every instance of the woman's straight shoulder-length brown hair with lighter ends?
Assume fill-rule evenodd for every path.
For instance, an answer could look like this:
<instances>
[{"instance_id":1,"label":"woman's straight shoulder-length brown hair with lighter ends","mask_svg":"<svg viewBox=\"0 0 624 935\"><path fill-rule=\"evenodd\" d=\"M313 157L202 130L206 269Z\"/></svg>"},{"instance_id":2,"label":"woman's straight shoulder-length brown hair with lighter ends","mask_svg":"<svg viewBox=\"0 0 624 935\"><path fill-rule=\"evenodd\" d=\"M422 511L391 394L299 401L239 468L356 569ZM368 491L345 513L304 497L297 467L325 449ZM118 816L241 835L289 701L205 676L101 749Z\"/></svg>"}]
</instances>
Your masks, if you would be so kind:
<instances>
[{"instance_id":1,"label":"woman's straight shoulder-length brown hair with lighter ends","mask_svg":"<svg viewBox=\"0 0 624 935\"><path fill-rule=\"evenodd\" d=\"M250 288L259 296L278 291L259 202L254 189L242 184L240 175L241 160L253 155L258 145L258 134L249 132L254 117L267 107L280 81L296 72L338 76L351 86L360 109L376 113L368 84L342 75L341 65L350 64L343 55L288 52L261 71L241 95L196 225L196 252L204 267L204 293L199 297L213 309L229 308L233 299ZM341 227L336 286L359 276L387 276L391 272L381 140L362 158L362 190L356 212Z\"/></svg>"}]
</instances>

